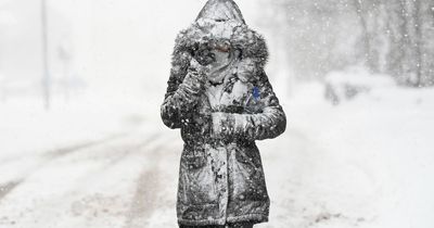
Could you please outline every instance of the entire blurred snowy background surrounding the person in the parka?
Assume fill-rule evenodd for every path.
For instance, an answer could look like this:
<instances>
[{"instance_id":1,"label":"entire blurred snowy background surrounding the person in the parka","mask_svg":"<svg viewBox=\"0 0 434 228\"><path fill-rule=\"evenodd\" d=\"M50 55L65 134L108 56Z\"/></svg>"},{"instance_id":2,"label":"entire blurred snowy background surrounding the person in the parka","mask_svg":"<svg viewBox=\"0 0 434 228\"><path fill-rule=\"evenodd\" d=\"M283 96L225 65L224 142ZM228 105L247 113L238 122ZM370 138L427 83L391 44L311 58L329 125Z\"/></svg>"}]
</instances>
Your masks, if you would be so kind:
<instances>
[{"instance_id":1,"label":"entire blurred snowy background surrounding the person in the parka","mask_svg":"<svg viewBox=\"0 0 434 228\"><path fill-rule=\"evenodd\" d=\"M205 0L0 0L0 227L176 227L159 119ZM258 227L432 228L434 2L237 0L289 126Z\"/></svg>"}]
</instances>

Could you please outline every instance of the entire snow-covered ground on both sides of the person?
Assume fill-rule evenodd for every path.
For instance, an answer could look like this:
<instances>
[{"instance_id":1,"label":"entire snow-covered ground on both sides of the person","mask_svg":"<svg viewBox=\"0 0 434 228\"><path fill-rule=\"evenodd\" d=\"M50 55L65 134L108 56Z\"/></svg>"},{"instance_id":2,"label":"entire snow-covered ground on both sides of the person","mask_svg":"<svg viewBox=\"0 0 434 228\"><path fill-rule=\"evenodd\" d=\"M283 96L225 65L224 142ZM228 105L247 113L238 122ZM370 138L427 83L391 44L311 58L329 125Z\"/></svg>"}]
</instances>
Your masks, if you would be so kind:
<instances>
[{"instance_id":1,"label":"entire snow-covered ground on both sides of the person","mask_svg":"<svg viewBox=\"0 0 434 228\"><path fill-rule=\"evenodd\" d=\"M337 106L316 84L293 94L286 132L258 142L272 199L258 227L434 227L434 90L379 87ZM159 100L0 104L0 227L176 227L182 142Z\"/></svg>"}]
</instances>

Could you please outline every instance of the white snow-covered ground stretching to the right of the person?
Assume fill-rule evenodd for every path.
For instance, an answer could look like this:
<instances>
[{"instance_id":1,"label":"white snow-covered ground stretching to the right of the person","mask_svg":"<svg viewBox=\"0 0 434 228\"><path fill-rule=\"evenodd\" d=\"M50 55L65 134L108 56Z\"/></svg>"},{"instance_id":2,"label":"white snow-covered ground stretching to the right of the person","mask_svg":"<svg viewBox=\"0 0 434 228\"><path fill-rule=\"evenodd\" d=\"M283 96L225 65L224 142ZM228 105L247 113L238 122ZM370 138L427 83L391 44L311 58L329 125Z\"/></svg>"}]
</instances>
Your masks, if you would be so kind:
<instances>
[{"instance_id":1,"label":"white snow-covered ground stretching to the right of the person","mask_svg":"<svg viewBox=\"0 0 434 228\"><path fill-rule=\"evenodd\" d=\"M369 92L337 106L319 84L288 102L286 134L261 143L273 201L260 227L434 226L434 90L357 83Z\"/></svg>"}]
</instances>

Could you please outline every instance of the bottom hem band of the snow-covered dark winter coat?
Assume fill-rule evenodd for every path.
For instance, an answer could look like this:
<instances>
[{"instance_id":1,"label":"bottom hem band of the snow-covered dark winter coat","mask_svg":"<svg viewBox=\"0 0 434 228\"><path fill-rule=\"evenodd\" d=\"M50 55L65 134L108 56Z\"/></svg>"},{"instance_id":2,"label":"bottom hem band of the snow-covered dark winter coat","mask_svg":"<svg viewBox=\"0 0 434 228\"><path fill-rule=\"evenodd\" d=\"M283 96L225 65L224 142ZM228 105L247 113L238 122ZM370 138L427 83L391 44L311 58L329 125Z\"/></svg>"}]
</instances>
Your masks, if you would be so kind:
<instances>
[{"instance_id":1,"label":"bottom hem band of the snow-covered dark winter coat","mask_svg":"<svg viewBox=\"0 0 434 228\"><path fill-rule=\"evenodd\" d=\"M189 219L178 219L178 224L180 225L186 225L186 226L213 226L213 225L219 225L224 226L227 223L229 224L234 224L234 223L254 223L254 224L260 224L260 223L267 223L268 221L268 216L264 214L247 214L247 215L241 215L241 216L235 216L235 217L228 217L227 219L220 218L220 219L201 219L201 220L189 220Z\"/></svg>"}]
</instances>

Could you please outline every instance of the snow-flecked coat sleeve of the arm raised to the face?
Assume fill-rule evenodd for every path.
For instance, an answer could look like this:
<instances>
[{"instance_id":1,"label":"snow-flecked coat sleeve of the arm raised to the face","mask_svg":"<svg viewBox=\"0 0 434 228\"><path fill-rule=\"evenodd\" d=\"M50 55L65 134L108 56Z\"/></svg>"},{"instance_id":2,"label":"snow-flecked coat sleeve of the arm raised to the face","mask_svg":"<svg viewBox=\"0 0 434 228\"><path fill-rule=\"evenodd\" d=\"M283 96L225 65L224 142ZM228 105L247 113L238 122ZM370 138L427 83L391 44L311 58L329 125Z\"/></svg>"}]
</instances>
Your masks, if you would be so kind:
<instances>
[{"instance_id":1,"label":"snow-flecked coat sleeve of the arm raised to the face","mask_svg":"<svg viewBox=\"0 0 434 228\"><path fill-rule=\"evenodd\" d=\"M196 72L190 69L191 54L175 47L167 91L161 106L164 124L169 128L180 128L187 124L188 116L194 110L197 94L204 83Z\"/></svg>"}]
</instances>

